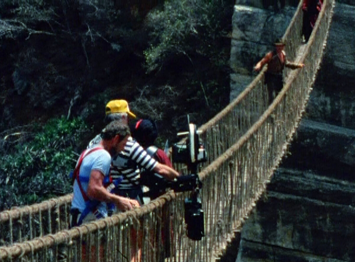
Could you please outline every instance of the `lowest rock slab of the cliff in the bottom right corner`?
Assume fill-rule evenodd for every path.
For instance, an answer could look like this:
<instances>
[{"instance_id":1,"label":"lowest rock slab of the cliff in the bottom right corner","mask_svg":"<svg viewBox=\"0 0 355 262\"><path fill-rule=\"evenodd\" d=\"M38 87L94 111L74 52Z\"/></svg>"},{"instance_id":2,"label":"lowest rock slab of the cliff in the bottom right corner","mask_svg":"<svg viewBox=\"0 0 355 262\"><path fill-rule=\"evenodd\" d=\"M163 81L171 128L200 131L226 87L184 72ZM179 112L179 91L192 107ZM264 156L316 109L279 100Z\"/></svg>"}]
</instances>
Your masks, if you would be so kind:
<instances>
[{"instance_id":1,"label":"lowest rock slab of the cliff in the bottom right corner","mask_svg":"<svg viewBox=\"0 0 355 262\"><path fill-rule=\"evenodd\" d=\"M298 186L302 187L302 183ZM275 261L309 261L301 260L305 253L312 253L312 257L355 261L354 217L355 207L349 205L268 191L243 227L238 256L252 257L244 253L247 240L258 243L256 246L263 243L266 250L268 246L278 248L279 256L285 255L283 249L300 253L299 260ZM261 258L260 254L258 257ZM239 261L248 261L244 258Z\"/></svg>"}]
</instances>

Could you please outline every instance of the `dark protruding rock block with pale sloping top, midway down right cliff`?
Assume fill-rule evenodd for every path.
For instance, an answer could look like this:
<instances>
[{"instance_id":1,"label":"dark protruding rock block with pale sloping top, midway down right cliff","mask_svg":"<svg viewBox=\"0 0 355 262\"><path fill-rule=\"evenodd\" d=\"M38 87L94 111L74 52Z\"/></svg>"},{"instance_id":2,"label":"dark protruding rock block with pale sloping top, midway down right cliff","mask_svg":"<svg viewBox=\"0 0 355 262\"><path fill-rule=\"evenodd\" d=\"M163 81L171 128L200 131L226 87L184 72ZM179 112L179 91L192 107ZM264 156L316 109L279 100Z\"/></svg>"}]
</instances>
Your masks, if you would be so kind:
<instances>
[{"instance_id":1,"label":"dark protruding rock block with pale sloping top, midway down right cliff","mask_svg":"<svg viewBox=\"0 0 355 262\"><path fill-rule=\"evenodd\" d=\"M292 154L283 160L285 166L327 170L351 179L355 167L355 130L302 119L290 151Z\"/></svg>"}]
</instances>

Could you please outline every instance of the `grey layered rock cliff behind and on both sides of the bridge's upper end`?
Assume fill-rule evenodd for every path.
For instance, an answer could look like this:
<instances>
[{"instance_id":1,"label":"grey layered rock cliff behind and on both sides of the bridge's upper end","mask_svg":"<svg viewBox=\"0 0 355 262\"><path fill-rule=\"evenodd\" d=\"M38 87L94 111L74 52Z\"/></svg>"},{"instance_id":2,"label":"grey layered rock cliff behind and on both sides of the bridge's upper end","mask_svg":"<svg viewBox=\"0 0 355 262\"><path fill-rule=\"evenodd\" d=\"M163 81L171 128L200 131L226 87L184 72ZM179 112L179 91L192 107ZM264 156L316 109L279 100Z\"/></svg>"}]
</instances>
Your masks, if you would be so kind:
<instances>
[{"instance_id":1,"label":"grey layered rock cliff behind and on both sides of the bridge's upper end","mask_svg":"<svg viewBox=\"0 0 355 262\"><path fill-rule=\"evenodd\" d=\"M335 5L326 51L304 120L290 154L242 229L235 258L238 262L355 261L354 6L353 0ZM247 8L236 6L234 19L244 16L240 10ZM259 17L264 12L271 11L250 11L249 16L255 13ZM237 26L234 32L240 32L242 27L233 23ZM251 23L245 21L243 31L252 30ZM232 40L232 68L235 66L238 74L249 74L232 74L231 87L235 88L231 99L252 78L251 62L238 60L233 64L232 56L260 59L265 49L263 38L254 39L256 43L249 51L239 48L241 41L241 37ZM246 68L245 72L236 70L239 67Z\"/></svg>"}]
</instances>

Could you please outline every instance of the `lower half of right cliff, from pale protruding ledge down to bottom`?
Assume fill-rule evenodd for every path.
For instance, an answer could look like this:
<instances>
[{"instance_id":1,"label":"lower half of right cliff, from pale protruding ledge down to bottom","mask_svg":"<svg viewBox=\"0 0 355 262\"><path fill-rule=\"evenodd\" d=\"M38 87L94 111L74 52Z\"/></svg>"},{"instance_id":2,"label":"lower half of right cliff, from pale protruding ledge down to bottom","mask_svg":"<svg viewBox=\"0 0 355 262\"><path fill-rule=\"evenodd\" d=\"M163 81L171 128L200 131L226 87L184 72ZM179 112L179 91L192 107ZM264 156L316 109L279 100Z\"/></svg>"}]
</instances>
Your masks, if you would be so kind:
<instances>
[{"instance_id":1,"label":"lower half of right cliff, from pale protruding ledge down to bottom","mask_svg":"<svg viewBox=\"0 0 355 262\"><path fill-rule=\"evenodd\" d=\"M355 131L306 120L297 133L242 228L237 262L355 261Z\"/></svg>"}]
</instances>

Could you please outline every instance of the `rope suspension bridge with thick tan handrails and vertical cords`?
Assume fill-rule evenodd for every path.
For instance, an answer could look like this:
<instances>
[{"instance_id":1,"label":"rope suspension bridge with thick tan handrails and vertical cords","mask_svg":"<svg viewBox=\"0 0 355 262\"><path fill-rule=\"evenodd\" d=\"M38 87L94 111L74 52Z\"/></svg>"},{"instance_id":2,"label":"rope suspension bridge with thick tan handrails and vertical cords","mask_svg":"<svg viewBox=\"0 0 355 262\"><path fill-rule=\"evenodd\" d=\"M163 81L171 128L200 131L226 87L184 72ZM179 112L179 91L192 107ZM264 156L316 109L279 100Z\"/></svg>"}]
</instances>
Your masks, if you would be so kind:
<instances>
[{"instance_id":1,"label":"rope suspension bridge with thick tan handrails and vertical cords","mask_svg":"<svg viewBox=\"0 0 355 262\"><path fill-rule=\"evenodd\" d=\"M300 2L283 39L289 59L305 67L284 70L284 87L271 105L264 68L235 100L199 128L208 156L198 173L205 226L201 241L186 236L188 192L169 191L138 209L72 229L68 227L70 194L1 212L0 260L129 261L131 249L140 247L141 261L218 261L265 190L302 117L333 7L334 0L324 0L311 37L302 44ZM140 236L131 242L135 232ZM165 242L170 240L168 252L162 234ZM164 252L169 257L162 256Z\"/></svg>"}]
</instances>

